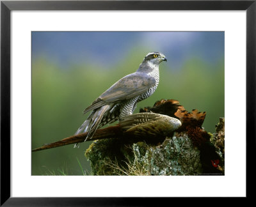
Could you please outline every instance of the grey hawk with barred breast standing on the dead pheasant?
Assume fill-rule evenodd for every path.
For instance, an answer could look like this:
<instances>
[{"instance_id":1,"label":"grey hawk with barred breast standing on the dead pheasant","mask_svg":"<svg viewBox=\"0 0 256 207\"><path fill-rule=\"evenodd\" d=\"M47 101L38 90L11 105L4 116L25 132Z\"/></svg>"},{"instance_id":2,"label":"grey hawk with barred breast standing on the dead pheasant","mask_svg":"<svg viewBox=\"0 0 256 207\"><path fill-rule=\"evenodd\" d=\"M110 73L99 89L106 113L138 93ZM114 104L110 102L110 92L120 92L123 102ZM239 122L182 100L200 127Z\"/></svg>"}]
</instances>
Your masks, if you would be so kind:
<instances>
[{"instance_id":1,"label":"grey hawk with barred breast standing on the dead pheasant","mask_svg":"<svg viewBox=\"0 0 256 207\"><path fill-rule=\"evenodd\" d=\"M148 98L156 90L159 64L162 61L167 61L164 54L149 52L136 72L117 81L84 109L84 114L92 112L75 135L88 132L86 139L91 139L97 128L131 115L138 102Z\"/></svg>"}]
</instances>

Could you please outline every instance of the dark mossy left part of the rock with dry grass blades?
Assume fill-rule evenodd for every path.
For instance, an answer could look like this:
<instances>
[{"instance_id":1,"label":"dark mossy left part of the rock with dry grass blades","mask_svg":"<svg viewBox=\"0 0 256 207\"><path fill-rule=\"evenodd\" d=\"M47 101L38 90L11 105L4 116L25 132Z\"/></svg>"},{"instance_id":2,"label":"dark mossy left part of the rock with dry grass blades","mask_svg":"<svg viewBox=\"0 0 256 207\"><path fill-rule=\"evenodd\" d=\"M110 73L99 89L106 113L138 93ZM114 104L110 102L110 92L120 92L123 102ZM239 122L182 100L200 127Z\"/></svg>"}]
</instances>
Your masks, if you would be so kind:
<instances>
[{"instance_id":1,"label":"dark mossy left part of the rock with dry grass blades","mask_svg":"<svg viewBox=\"0 0 256 207\"><path fill-rule=\"evenodd\" d=\"M147 144L122 143L109 139L90 145L85 156L91 162L93 175L148 175Z\"/></svg>"}]
</instances>

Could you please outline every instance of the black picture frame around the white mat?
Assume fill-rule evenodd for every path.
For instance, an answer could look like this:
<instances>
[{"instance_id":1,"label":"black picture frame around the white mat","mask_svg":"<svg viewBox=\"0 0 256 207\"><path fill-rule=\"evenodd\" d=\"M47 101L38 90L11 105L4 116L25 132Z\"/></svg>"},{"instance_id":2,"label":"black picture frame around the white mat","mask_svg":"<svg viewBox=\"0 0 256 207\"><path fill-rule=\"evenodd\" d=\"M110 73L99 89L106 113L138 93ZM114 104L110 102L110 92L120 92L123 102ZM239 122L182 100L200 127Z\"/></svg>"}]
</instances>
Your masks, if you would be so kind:
<instances>
[{"instance_id":1,"label":"black picture frame around the white mat","mask_svg":"<svg viewBox=\"0 0 256 207\"><path fill-rule=\"evenodd\" d=\"M246 197L255 176L256 0L252 1L1 1L1 206L150 206L168 198L10 197L10 12L12 10L246 10ZM235 60L234 60L235 61ZM237 104L237 116L244 109ZM168 201L166 201L168 202ZM161 205L161 204L160 204Z\"/></svg>"}]
</instances>

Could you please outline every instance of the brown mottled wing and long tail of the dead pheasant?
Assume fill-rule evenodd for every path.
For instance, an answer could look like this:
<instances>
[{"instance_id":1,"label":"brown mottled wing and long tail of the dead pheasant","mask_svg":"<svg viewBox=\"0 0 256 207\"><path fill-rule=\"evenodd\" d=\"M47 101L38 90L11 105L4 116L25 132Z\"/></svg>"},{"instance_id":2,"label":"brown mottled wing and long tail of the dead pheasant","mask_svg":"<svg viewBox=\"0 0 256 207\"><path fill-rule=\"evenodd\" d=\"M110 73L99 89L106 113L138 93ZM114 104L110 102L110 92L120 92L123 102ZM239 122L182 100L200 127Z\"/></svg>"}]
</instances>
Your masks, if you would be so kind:
<instances>
[{"instance_id":1,"label":"brown mottled wing and long tail of the dead pheasant","mask_svg":"<svg viewBox=\"0 0 256 207\"><path fill-rule=\"evenodd\" d=\"M181 125L179 119L155 113L139 113L131 114L125 117L120 123L114 127L107 127L96 130L91 139L86 141L93 141L95 139L107 139L116 137L140 137L148 139L148 137L163 137L172 133ZM87 137L88 132L73 135L51 144L45 144L40 148L32 151L46 150L84 142L84 137Z\"/></svg>"}]
</instances>

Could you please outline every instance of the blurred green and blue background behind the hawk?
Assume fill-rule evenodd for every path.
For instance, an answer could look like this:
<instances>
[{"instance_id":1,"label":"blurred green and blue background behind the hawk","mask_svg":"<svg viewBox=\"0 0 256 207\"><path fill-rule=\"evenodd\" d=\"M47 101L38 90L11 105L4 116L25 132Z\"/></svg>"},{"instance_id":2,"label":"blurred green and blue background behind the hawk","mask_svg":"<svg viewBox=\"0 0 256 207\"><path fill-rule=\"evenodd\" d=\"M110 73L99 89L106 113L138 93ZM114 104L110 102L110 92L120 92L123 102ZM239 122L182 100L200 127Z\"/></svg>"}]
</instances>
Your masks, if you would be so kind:
<instances>
[{"instance_id":1,"label":"blurred green and blue background behind the hawk","mask_svg":"<svg viewBox=\"0 0 256 207\"><path fill-rule=\"evenodd\" d=\"M206 111L215 132L224 117L224 32L32 32L32 148L73 135L83 109L112 84L135 72L148 52L163 52L154 95ZM32 175L90 174L84 151L91 142L32 153ZM81 165L80 165L81 164Z\"/></svg>"}]
</instances>

